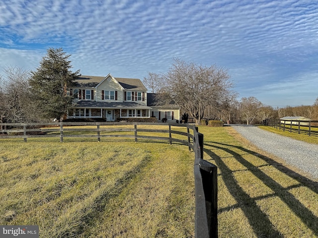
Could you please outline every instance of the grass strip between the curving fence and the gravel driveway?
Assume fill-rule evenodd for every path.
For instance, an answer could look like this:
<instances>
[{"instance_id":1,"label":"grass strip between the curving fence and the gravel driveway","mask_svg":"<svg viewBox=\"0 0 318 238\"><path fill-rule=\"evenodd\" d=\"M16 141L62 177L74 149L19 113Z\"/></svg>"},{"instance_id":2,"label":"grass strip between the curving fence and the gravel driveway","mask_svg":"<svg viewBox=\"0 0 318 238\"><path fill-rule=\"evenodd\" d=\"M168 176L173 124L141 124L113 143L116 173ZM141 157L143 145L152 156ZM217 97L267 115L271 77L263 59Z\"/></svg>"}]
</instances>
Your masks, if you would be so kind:
<instances>
[{"instance_id":1,"label":"grass strip between the curving fence and the gravel driveway","mask_svg":"<svg viewBox=\"0 0 318 238\"><path fill-rule=\"evenodd\" d=\"M218 166L219 237L318 237L318 182L243 139L200 127Z\"/></svg>"}]
</instances>

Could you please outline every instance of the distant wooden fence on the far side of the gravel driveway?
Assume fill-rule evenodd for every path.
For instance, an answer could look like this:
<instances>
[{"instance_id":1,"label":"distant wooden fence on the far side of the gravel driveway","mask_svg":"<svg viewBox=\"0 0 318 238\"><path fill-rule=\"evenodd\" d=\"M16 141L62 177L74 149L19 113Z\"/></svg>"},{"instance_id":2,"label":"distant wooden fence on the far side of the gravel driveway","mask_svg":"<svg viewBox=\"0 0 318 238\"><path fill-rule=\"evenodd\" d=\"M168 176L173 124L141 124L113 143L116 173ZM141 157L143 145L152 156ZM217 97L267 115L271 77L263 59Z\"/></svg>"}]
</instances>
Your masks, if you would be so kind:
<instances>
[{"instance_id":1,"label":"distant wooden fence on the far side of the gravel driveway","mask_svg":"<svg viewBox=\"0 0 318 238\"><path fill-rule=\"evenodd\" d=\"M318 120L273 119L268 125L283 131L318 136Z\"/></svg>"}]
</instances>

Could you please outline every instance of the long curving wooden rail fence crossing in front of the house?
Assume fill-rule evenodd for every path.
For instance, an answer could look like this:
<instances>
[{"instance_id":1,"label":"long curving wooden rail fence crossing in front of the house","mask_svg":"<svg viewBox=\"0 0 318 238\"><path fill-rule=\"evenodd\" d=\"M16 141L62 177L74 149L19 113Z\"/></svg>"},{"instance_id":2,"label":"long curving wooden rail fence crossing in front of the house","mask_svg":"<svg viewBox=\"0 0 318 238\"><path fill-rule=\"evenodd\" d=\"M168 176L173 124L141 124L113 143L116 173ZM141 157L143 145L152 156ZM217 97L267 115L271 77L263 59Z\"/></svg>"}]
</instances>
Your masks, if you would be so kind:
<instances>
[{"instance_id":1,"label":"long curving wooden rail fence crossing in front of the house","mask_svg":"<svg viewBox=\"0 0 318 238\"><path fill-rule=\"evenodd\" d=\"M155 129L156 125L167 128ZM177 130L177 127L186 128L186 132ZM168 136L148 136L142 135L142 132L166 133ZM173 135L181 135L184 139L174 138ZM170 144L173 141L188 146L195 154L195 237L218 237L217 167L203 160L203 134L198 132L198 127L190 124L142 122L0 123L0 139L21 138L27 142L28 138L34 137L59 137L61 142L68 137L95 138L97 141L103 137L126 137L135 142L138 139L168 140Z\"/></svg>"}]
</instances>

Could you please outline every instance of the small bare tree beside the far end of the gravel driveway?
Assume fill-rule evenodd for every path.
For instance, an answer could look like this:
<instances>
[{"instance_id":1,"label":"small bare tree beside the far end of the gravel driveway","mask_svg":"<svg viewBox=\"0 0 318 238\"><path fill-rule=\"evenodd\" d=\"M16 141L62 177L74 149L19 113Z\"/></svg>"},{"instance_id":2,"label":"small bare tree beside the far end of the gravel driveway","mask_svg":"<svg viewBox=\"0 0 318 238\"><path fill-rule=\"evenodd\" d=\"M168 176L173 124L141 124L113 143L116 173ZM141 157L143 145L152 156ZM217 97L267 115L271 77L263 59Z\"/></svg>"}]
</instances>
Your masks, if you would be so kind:
<instances>
[{"instance_id":1,"label":"small bare tree beside the far end of the gravel driveway","mask_svg":"<svg viewBox=\"0 0 318 238\"><path fill-rule=\"evenodd\" d=\"M263 104L255 97L242 98L239 106L240 118L249 125L257 118Z\"/></svg>"}]
</instances>

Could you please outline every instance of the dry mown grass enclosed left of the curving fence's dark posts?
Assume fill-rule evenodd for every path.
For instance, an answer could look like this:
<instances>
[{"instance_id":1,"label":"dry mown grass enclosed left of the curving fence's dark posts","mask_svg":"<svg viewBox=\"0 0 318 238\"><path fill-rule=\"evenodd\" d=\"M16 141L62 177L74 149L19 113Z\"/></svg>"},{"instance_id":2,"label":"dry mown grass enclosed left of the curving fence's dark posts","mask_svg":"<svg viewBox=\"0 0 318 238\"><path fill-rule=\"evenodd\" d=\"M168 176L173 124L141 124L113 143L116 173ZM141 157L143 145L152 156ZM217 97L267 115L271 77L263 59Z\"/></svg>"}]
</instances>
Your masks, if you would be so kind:
<instances>
[{"instance_id":1,"label":"dry mown grass enclosed left of the curving fence's dark posts","mask_svg":"<svg viewBox=\"0 0 318 238\"><path fill-rule=\"evenodd\" d=\"M0 224L44 238L194 236L185 146L1 142L0 155Z\"/></svg>"}]
</instances>

